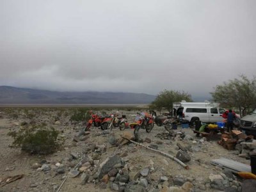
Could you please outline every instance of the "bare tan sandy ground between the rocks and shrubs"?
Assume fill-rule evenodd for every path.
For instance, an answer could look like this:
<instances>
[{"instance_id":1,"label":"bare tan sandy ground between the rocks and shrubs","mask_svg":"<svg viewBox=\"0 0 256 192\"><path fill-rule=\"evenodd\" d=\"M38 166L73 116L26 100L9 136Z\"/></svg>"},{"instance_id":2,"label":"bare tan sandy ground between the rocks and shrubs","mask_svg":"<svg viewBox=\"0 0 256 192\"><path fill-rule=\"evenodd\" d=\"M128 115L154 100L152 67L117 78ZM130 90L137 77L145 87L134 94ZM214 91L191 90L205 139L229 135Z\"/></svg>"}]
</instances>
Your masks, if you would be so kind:
<instances>
[{"instance_id":1,"label":"bare tan sandy ground between the rocks and shrubs","mask_svg":"<svg viewBox=\"0 0 256 192\"><path fill-rule=\"evenodd\" d=\"M129 122L132 122L132 119L134 118L132 114L135 114L136 111L122 111L122 113L127 115ZM44 119L47 119L47 115L42 116L41 120ZM49 119L51 118L48 118L48 121L51 122ZM56 186L60 186L63 181L63 176L65 176L68 171L66 171L65 174L55 175L53 172L36 172L36 170L31 166L33 163L40 163L42 159L46 159L47 161L52 162L52 164L61 162L66 157L70 156L70 152L82 154L85 146L84 141L79 141L78 143L75 143L76 145L74 144L74 141L72 141L73 137L77 135L81 127L65 124L65 122L67 122L67 119L65 118L60 119L60 125L54 125L54 122L52 122L52 125L54 125L56 129L63 131L62 134L66 136L65 148L49 156L31 156L21 152L17 148L9 147L12 143L12 138L7 134L10 131L10 128L14 127L19 129L22 121L24 121L24 118L13 119L6 118L6 116L2 116L0 118L0 179L8 176L24 174L22 179L0 187L0 191L54 191ZM125 131L132 132L133 129L127 129ZM143 140L145 140L145 138L150 138L152 143L163 141L163 144L159 145L158 149L175 156L177 154L177 141L160 140L156 137L158 133L164 131L164 127L157 127L157 125L154 125L154 129L150 133L141 129L140 137L143 138ZM190 134L196 141L200 139L195 137L195 134L191 129L182 129L179 127L177 131L185 131L186 134ZM143 147L134 146L132 150L128 145L125 145L122 148L111 147L108 143L108 136L96 136L95 133L97 132L100 132L100 129L92 127L90 139L88 139L89 141L86 141L86 143L89 142L106 145L107 150L100 157L100 162L113 154L122 154L126 151L128 154L128 156L125 157L128 160L127 165L134 172L140 172L141 169L150 166L150 160L154 162L154 172L150 173L152 180L159 180L159 177L161 176L174 177L182 175L182 177L192 178L192 183L205 184L210 174L220 174L220 169L212 166L210 163L212 159L225 157L239 161L240 163L250 164L250 160L237 156L234 154L234 151L221 147L216 143L216 141L209 141L203 144L200 151L189 152L191 161L187 163L189 170L186 170L179 164L175 163L172 159L168 159L168 157L164 157ZM124 131L113 129L113 133L116 138L119 138ZM145 145L147 145L147 143L145 143ZM191 145L192 147L196 147L196 144ZM78 161L79 159L74 162L74 165L76 165ZM63 184L61 191L111 191L109 188L100 189L97 184L88 183L86 185L81 185L80 183L81 180L79 177L68 178Z\"/></svg>"}]
</instances>

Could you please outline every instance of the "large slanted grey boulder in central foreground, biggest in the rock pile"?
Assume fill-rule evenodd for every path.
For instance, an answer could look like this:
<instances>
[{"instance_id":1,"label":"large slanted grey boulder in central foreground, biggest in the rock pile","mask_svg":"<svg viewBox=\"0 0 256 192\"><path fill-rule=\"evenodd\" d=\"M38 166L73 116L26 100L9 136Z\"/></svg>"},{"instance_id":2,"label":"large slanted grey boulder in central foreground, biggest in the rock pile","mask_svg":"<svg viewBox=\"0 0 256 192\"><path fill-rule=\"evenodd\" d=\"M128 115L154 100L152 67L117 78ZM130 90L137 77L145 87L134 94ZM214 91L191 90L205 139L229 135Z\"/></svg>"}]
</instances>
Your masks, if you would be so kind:
<instances>
[{"instance_id":1,"label":"large slanted grey boulder in central foreground, biggest in the rock pile","mask_svg":"<svg viewBox=\"0 0 256 192\"><path fill-rule=\"evenodd\" d=\"M106 175L115 164L122 164L121 158L118 156L108 157L104 162L100 164L99 171L97 173L98 179L102 179L103 175Z\"/></svg>"}]
</instances>

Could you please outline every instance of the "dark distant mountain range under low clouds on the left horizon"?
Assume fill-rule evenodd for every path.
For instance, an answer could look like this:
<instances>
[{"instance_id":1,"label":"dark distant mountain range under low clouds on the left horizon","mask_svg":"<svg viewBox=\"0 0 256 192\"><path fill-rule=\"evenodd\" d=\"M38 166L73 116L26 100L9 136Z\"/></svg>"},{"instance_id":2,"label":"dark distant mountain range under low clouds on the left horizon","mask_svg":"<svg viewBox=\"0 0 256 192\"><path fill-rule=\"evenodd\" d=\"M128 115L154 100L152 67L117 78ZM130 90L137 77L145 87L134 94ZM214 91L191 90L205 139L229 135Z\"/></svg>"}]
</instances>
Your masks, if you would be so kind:
<instances>
[{"instance_id":1,"label":"dark distant mountain range under low clouds on the left horizon","mask_svg":"<svg viewBox=\"0 0 256 192\"><path fill-rule=\"evenodd\" d=\"M148 104L155 98L145 93L52 92L0 86L0 104Z\"/></svg>"}]
</instances>

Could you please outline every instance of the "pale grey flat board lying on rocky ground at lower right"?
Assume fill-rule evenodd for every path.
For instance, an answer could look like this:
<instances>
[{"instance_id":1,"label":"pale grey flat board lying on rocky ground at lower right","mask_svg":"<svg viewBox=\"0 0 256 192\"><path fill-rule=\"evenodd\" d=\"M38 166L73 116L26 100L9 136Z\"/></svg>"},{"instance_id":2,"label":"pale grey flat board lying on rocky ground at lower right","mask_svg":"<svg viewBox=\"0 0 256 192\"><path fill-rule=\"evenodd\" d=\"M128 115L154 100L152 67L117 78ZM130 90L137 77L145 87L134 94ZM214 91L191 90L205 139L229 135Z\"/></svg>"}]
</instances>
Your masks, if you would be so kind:
<instances>
[{"instance_id":1,"label":"pale grey flat board lying on rocky ground at lower right","mask_svg":"<svg viewBox=\"0 0 256 192\"><path fill-rule=\"evenodd\" d=\"M232 159L226 159L221 157L220 159L213 159L211 161L211 164L214 164L216 166L220 166L221 168L228 168L228 170L231 170L234 173L238 172L249 172L251 173L251 166L248 164L239 163L237 161L234 161Z\"/></svg>"}]
</instances>

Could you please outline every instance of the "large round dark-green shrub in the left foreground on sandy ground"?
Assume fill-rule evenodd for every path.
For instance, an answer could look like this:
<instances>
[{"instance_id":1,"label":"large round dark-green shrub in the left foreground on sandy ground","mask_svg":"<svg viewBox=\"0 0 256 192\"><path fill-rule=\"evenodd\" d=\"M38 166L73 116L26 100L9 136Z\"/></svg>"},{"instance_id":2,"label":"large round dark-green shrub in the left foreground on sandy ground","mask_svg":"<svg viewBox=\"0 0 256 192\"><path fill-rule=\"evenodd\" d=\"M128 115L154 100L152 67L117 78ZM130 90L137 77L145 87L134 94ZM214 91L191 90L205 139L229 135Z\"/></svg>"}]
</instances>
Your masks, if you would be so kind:
<instances>
[{"instance_id":1,"label":"large round dark-green shrub in the left foreground on sandy ground","mask_svg":"<svg viewBox=\"0 0 256 192\"><path fill-rule=\"evenodd\" d=\"M12 147L21 148L30 154L51 154L60 147L59 132L53 127L42 125L21 127L19 131L8 132L12 136Z\"/></svg>"}]
</instances>

